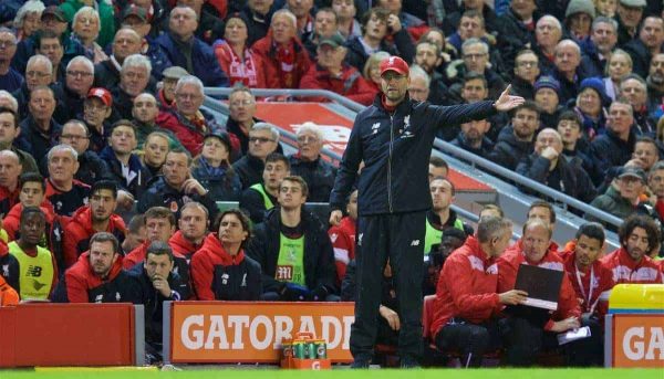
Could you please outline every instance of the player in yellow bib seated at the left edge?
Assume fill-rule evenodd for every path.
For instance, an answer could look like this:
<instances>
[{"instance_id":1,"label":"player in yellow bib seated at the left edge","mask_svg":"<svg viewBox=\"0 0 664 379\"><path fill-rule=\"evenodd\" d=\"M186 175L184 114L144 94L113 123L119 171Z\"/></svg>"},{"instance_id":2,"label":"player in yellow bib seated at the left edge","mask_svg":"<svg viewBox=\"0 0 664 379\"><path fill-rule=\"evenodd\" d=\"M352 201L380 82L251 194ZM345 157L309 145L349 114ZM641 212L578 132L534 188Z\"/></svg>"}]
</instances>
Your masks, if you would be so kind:
<instances>
[{"instance_id":1,"label":"player in yellow bib seated at the left edge","mask_svg":"<svg viewBox=\"0 0 664 379\"><path fill-rule=\"evenodd\" d=\"M46 217L38 207L21 211L19 236L8 244L9 254L18 262L18 286L22 301L46 301L58 282L58 267L49 249L39 245Z\"/></svg>"}]
</instances>

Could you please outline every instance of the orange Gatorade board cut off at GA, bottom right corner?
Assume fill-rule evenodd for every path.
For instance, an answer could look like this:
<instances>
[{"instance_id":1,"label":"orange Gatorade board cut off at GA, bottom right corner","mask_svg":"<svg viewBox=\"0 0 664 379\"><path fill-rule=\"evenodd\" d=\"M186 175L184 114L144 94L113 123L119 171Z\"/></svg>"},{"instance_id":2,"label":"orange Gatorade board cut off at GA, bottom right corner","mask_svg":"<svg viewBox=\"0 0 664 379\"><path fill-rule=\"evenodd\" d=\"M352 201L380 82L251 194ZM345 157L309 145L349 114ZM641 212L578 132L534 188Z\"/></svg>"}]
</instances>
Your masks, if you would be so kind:
<instances>
[{"instance_id":1,"label":"orange Gatorade board cut off at GA, bottom right corner","mask_svg":"<svg viewBox=\"0 0 664 379\"><path fill-rule=\"evenodd\" d=\"M614 315L613 350L613 367L664 368L664 315Z\"/></svg>"}]
</instances>

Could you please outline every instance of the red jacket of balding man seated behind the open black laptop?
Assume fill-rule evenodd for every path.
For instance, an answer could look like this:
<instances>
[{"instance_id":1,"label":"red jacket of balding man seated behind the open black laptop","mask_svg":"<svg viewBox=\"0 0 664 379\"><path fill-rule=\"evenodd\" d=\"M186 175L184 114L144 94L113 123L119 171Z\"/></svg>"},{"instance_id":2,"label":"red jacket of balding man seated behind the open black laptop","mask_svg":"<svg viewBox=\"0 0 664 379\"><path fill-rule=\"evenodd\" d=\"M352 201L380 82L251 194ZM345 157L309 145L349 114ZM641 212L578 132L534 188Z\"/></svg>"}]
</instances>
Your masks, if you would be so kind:
<instances>
[{"instance_id":1,"label":"red jacket of balding man seated behind the open black laptop","mask_svg":"<svg viewBox=\"0 0 664 379\"><path fill-rule=\"evenodd\" d=\"M543 269L564 271L564 264L558 255L557 249L557 244L550 244L549 251L547 251L541 261L532 263L526 260L519 240L519 243L512 245L498 259L498 293L515 288L517 272L521 264L536 264ZM560 295L558 296L558 309L551 315L551 319L549 319L544 326L544 330L550 330L551 327L553 327L554 320L561 320L568 317L581 317L581 307L579 307L577 293L572 287L572 283L567 275L563 275Z\"/></svg>"}]
</instances>

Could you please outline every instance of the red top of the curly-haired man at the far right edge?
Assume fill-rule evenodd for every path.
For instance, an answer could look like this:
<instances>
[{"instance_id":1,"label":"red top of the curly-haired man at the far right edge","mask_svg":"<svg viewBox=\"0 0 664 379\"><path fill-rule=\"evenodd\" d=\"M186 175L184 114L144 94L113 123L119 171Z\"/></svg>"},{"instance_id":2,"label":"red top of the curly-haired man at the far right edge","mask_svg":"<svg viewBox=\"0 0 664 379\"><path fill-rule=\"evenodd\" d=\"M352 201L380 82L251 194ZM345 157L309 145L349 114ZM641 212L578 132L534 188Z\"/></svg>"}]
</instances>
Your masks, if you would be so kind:
<instances>
[{"instance_id":1,"label":"red top of the curly-haired man at the far right edge","mask_svg":"<svg viewBox=\"0 0 664 379\"><path fill-rule=\"evenodd\" d=\"M602 264L611 270L615 284L661 284L662 269L650 256L643 256L636 263L624 248L613 251L600 260Z\"/></svg>"}]
</instances>

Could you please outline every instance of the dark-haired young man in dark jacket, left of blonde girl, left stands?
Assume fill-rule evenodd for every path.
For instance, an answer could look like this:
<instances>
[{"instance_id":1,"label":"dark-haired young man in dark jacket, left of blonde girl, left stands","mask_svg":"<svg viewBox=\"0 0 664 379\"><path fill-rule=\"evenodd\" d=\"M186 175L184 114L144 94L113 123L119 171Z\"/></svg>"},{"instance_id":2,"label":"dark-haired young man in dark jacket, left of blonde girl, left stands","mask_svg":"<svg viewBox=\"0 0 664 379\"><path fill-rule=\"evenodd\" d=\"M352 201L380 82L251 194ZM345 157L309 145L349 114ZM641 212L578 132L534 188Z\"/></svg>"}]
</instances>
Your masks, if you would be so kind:
<instances>
[{"instance_id":1,"label":"dark-haired young man in dark jacket, left of blonde girl, left stands","mask_svg":"<svg viewBox=\"0 0 664 379\"><path fill-rule=\"evenodd\" d=\"M113 124L108 146L100 152L100 158L108 166L110 176L117 183L117 188L131 193L133 199L141 198L151 177L141 158L133 154L136 146L134 124L121 119ZM120 242L122 243L122 240Z\"/></svg>"}]
</instances>

